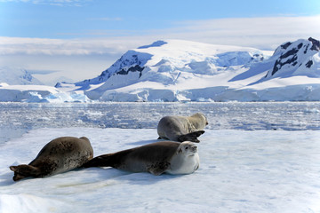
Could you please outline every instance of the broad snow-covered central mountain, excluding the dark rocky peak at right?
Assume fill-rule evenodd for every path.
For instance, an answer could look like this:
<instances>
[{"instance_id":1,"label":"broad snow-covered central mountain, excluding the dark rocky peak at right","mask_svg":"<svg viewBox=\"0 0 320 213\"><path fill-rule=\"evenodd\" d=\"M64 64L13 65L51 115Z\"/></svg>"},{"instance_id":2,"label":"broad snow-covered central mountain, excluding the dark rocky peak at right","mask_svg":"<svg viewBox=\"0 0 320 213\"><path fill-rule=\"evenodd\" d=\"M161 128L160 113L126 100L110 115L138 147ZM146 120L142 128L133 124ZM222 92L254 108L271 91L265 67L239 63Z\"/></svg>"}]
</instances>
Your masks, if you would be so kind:
<instances>
[{"instance_id":1,"label":"broad snow-covered central mountain, excluding the dark rocky peak at right","mask_svg":"<svg viewBox=\"0 0 320 213\"><path fill-rule=\"evenodd\" d=\"M226 79L265 57L264 52L253 48L158 41L127 51L100 76L76 83L76 87L85 90L90 99L177 101L184 99L180 91L217 83L223 87L221 76Z\"/></svg>"}]
</instances>

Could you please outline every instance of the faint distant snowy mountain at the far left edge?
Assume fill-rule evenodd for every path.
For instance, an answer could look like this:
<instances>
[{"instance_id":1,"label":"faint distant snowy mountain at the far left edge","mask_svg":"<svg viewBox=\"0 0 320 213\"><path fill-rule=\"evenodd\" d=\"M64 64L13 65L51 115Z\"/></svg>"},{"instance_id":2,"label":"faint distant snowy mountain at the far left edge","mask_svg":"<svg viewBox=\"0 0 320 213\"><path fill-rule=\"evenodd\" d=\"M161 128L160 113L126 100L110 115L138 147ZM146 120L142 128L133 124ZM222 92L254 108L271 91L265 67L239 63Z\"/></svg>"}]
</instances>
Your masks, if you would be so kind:
<instances>
[{"instance_id":1,"label":"faint distant snowy mountain at the far left edge","mask_svg":"<svg viewBox=\"0 0 320 213\"><path fill-rule=\"evenodd\" d=\"M42 85L39 80L28 73L28 71L20 68L0 67L0 83L11 85Z\"/></svg>"}]
</instances>

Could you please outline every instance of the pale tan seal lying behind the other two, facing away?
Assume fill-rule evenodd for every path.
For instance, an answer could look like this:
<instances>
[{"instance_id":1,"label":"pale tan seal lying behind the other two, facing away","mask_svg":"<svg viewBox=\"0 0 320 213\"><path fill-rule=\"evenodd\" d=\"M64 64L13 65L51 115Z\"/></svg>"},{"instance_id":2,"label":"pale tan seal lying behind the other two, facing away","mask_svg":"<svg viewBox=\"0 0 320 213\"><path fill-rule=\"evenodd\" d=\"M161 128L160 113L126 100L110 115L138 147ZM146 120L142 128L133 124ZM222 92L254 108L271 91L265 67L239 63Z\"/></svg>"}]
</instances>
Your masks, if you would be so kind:
<instances>
[{"instance_id":1,"label":"pale tan seal lying behind the other two, facing away","mask_svg":"<svg viewBox=\"0 0 320 213\"><path fill-rule=\"evenodd\" d=\"M192 141L199 143L197 139L204 134L204 127L208 121L204 114L196 113L191 116L165 116L157 125L159 139L169 139L183 142Z\"/></svg>"}]
</instances>

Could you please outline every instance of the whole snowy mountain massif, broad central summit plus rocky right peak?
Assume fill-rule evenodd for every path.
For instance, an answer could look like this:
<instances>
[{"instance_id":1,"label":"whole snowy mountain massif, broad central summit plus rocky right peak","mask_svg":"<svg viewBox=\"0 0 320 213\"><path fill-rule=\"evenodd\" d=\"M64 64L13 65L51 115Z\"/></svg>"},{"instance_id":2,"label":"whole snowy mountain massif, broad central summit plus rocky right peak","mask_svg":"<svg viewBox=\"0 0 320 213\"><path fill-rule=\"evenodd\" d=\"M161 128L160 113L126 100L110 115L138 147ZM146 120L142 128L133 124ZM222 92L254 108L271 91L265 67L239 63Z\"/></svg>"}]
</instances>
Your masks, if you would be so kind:
<instances>
[{"instance_id":1,"label":"whole snowy mountain massif, broad central summit plus rocky right peak","mask_svg":"<svg viewBox=\"0 0 320 213\"><path fill-rule=\"evenodd\" d=\"M101 101L320 100L319 41L271 51L181 40L127 51L100 76L58 83Z\"/></svg>"}]
</instances>

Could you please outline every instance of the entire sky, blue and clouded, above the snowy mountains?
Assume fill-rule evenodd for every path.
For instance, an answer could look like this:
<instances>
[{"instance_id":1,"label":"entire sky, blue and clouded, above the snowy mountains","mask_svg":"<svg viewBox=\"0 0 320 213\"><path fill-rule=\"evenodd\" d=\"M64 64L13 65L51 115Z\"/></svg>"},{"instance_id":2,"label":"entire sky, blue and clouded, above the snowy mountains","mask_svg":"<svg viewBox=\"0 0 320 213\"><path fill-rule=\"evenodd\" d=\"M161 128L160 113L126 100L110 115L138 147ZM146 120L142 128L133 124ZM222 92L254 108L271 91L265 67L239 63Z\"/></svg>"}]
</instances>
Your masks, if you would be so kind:
<instances>
[{"instance_id":1,"label":"entire sky, blue and clouded, above the snowy mountains","mask_svg":"<svg viewBox=\"0 0 320 213\"><path fill-rule=\"evenodd\" d=\"M319 23L319 0L0 0L0 67L81 81L156 40L275 50Z\"/></svg>"}]
</instances>

